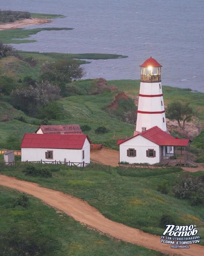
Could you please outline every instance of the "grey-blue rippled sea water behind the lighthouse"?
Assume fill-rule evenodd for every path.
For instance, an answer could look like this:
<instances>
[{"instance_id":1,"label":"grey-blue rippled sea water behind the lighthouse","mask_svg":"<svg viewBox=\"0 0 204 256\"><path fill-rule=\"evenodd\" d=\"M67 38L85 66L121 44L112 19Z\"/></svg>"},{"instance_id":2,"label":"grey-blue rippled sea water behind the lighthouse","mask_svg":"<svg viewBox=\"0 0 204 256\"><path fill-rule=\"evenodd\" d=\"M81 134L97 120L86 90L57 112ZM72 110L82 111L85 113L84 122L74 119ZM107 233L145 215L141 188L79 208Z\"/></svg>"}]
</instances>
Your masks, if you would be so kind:
<instances>
[{"instance_id":1,"label":"grey-blue rippled sea water behind the lighthouse","mask_svg":"<svg viewBox=\"0 0 204 256\"><path fill-rule=\"evenodd\" d=\"M66 16L29 28L74 28L42 31L16 49L128 55L83 65L86 78L139 79L152 56L163 85L204 92L204 0L1 0L0 8Z\"/></svg>"}]
</instances>

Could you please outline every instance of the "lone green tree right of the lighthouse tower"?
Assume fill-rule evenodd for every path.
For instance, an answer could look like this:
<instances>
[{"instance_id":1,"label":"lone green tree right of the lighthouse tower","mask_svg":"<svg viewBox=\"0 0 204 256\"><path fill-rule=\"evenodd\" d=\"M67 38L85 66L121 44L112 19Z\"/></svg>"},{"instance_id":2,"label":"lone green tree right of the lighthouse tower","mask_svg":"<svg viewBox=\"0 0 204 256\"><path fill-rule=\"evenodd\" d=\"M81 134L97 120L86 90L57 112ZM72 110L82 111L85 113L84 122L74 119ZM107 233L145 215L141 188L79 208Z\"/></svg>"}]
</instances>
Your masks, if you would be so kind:
<instances>
[{"instance_id":1,"label":"lone green tree right of the lighthouse tower","mask_svg":"<svg viewBox=\"0 0 204 256\"><path fill-rule=\"evenodd\" d=\"M176 120L180 129L185 129L185 122L190 122L192 116L196 115L198 109L193 113L190 102L182 104L181 102L174 101L168 104L166 109L166 117L170 120ZM181 124L182 121L182 124Z\"/></svg>"}]
</instances>

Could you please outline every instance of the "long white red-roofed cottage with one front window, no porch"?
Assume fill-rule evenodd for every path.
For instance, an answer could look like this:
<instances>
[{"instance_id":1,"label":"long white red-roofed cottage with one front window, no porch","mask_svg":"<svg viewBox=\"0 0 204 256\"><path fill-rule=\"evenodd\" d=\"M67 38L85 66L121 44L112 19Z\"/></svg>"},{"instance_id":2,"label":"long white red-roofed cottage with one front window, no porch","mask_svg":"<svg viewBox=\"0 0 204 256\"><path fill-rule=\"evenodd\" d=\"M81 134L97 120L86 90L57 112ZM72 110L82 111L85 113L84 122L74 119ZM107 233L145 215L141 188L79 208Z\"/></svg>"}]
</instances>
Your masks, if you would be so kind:
<instances>
[{"instance_id":1,"label":"long white red-roofed cottage with one front window, no porch","mask_svg":"<svg viewBox=\"0 0 204 256\"><path fill-rule=\"evenodd\" d=\"M90 163L90 143L84 134L26 133L21 143L21 161Z\"/></svg>"}]
</instances>

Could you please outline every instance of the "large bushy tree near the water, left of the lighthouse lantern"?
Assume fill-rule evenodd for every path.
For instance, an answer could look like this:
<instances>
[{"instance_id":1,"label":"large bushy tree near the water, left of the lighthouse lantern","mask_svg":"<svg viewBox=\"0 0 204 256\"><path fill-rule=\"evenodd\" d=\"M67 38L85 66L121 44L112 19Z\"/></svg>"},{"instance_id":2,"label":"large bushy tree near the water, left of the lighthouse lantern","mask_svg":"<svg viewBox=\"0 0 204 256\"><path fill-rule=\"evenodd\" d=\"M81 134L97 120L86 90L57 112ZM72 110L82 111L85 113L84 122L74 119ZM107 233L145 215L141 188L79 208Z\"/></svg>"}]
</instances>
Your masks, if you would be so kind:
<instances>
[{"instance_id":1,"label":"large bushy tree near the water, left of the lighthouse lantern","mask_svg":"<svg viewBox=\"0 0 204 256\"><path fill-rule=\"evenodd\" d=\"M66 84L72 82L72 80L80 80L84 76L83 68L76 60L61 59L56 62L46 62L42 65L41 69L42 80L48 80L49 82L55 82L57 84Z\"/></svg>"}]
</instances>

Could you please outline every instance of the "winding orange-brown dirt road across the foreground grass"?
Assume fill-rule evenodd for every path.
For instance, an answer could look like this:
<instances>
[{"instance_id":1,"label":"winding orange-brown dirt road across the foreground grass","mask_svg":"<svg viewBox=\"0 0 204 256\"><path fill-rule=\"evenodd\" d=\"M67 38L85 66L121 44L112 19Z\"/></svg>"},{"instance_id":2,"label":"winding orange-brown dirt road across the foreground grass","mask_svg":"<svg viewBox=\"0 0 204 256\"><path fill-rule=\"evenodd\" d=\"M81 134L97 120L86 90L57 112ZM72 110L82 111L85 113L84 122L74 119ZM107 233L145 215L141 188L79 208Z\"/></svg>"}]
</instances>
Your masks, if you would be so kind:
<instances>
[{"instance_id":1,"label":"winding orange-brown dirt road across the foreground grass","mask_svg":"<svg viewBox=\"0 0 204 256\"><path fill-rule=\"evenodd\" d=\"M139 229L127 227L123 224L110 221L97 209L90 206L86 201L66 195L60 191L42 188L36 183L17 180L16 178L0 175L0 185L20 190L21 192L37 197L54 208L64 211L76 221L84 223L108 236L137 244L152 250L170 255L203 256L204 247L190 245L189 249L171 249L170 245L162 244L160 236L144 233Z\"/></svg>"}]
</instances>

